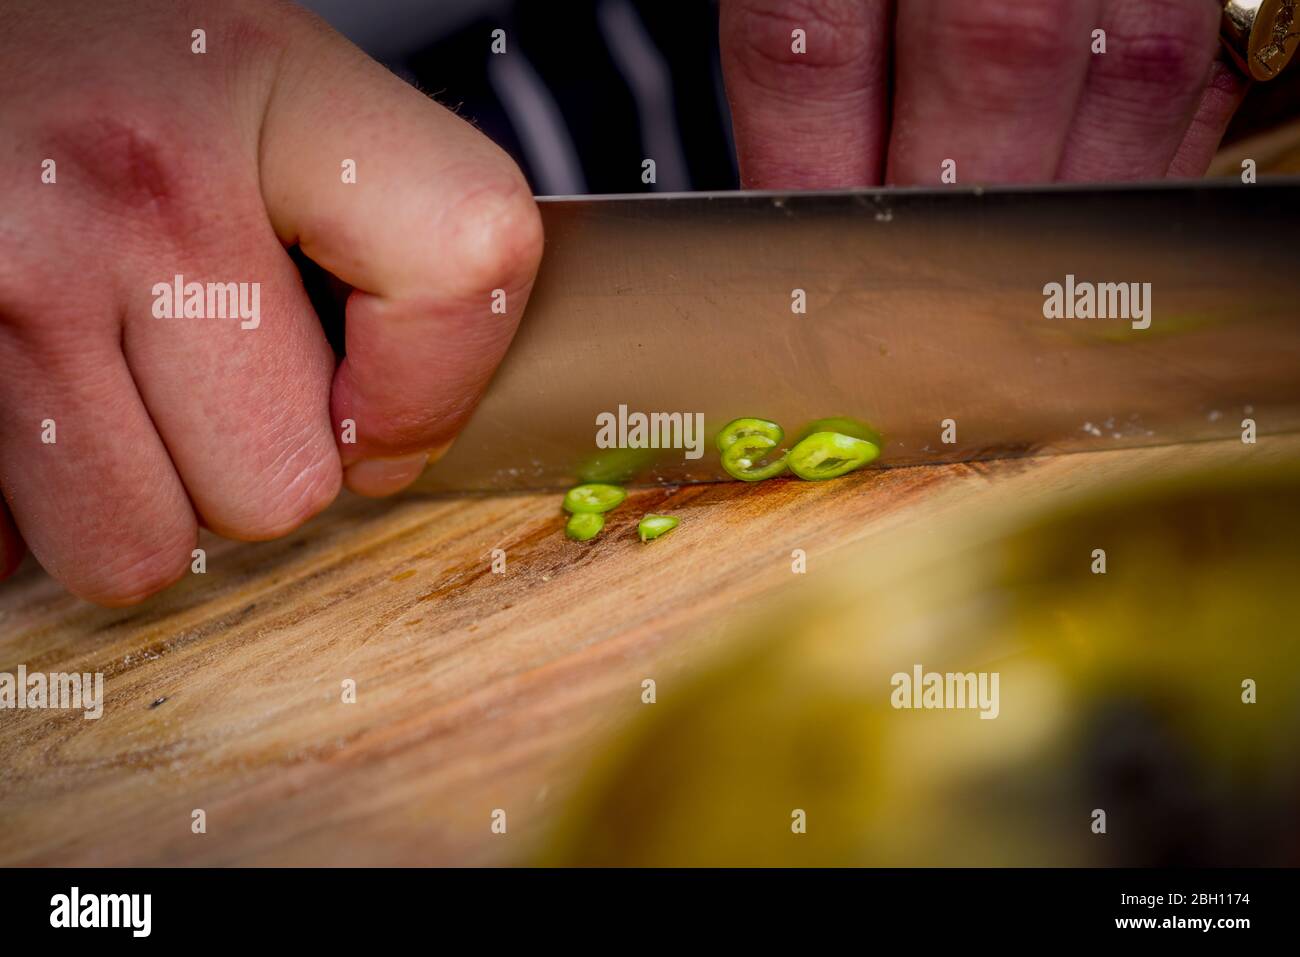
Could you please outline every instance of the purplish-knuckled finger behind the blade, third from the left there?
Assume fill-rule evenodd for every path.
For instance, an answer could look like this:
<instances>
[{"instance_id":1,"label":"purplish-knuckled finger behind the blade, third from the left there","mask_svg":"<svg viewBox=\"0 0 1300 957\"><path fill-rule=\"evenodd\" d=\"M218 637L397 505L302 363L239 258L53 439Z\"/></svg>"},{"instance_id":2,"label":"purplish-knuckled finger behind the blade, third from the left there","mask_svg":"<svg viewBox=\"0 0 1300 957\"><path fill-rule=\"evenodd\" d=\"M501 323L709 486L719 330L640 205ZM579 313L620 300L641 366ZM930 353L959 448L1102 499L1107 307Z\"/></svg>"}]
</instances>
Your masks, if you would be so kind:
<instances>
[{"instance_id":1,"label":"purplish-knuckled finger behind the blade, third from the left there","mask_svg":"<svg viewBox=\"0 0 1300 957\"><path fill-rule=\"evenodd\" d=\"M1060 179L1165 176L1210 82L1219 16L1210 0L1105 0L1106 52L1092 56Z\"/></svg>"}]
</instances>

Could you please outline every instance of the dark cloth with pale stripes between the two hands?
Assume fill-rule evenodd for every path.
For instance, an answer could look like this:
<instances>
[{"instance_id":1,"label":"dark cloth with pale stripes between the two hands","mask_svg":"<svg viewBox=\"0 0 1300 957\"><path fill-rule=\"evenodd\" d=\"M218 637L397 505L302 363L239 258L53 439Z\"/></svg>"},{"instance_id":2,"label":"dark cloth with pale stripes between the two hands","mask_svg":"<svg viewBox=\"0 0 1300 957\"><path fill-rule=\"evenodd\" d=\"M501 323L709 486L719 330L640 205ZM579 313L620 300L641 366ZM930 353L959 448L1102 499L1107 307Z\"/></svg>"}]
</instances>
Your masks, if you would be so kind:
<instances>
[{"instance_id":1,"label":"dark cloth with pale stripes between the two hands","mask_svg":"<svg viewBox=\"0 0 1300 957\"><path fill-rule=\"evenodd\" d=\"M303 5L477 125L537 194L738 186L711 0ZM490 52L498 27L508 56Z\"/></svg>"}]
</instances>

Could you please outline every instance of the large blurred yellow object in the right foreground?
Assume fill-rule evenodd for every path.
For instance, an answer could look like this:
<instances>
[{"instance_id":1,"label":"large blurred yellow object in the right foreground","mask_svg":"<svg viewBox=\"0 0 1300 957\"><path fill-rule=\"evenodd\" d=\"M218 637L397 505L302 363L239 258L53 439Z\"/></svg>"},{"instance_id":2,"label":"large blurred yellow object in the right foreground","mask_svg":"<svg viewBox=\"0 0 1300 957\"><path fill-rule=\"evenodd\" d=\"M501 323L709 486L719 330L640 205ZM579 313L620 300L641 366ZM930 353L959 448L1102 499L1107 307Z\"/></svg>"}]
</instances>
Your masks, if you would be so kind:
<instances>
[{"instance_id":1,"label":"large blurred yellow object in the right foreground","mask_svg":"<svg viewBox=\"0 0 1300 957\"><path fill-rule=\"evenodd\" d=\"M1300 862L1300 469L915 538L660 689L542 861ZM896 707L918 667L996 675L996 716Z\"/></svg>"}]
</instances>

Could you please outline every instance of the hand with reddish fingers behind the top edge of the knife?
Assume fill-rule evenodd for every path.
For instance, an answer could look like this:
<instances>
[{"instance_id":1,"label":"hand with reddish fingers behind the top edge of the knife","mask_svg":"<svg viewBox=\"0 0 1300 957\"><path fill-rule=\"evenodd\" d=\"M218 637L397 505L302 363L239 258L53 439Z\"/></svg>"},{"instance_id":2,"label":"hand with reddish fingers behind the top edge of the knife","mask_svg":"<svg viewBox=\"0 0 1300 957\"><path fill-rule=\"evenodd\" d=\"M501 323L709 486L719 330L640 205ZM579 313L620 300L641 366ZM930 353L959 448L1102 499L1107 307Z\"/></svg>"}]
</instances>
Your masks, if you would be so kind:
<instances>
[{"instance_id":1,"label":"hand with reddish fingers behind the top edge of the knife","mask_svg":"<svg viewBox=\"0 0 1300 957\"><path fill-rule=\"evenodd\" d=\"M723 0L742 182L939 186L945 160L971 185L1201 176L1245 88L1218 60L1221 14L1217 0Z\"/></svg>"}]
</instances>

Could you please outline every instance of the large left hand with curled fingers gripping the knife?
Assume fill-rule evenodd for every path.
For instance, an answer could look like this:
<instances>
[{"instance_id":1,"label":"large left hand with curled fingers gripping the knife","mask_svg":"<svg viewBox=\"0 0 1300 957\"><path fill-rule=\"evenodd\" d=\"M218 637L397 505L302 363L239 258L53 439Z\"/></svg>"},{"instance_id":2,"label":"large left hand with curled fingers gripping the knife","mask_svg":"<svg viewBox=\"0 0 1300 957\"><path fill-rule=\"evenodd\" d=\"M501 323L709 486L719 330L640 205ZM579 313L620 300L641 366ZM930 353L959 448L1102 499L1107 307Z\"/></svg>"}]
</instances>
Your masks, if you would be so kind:
<instances>
[{"instance_id":1,"label":"large left hand with curled fingers gripping the knife","mask_svg":"<svg viewBox=\"0 0 1300 957\"><path fill-rule=\"evenodd\" d=\"M187 572L200 521L272 538L341 481L413 480L541 256L510 159L287 4L0 13L0 576L21 531L73 592L129 603ZM355 287L337 368L292 246ZM260 283L256 322L156 317L176 276L248 283L246 306Z\"/></svg>"}]
</instances>

